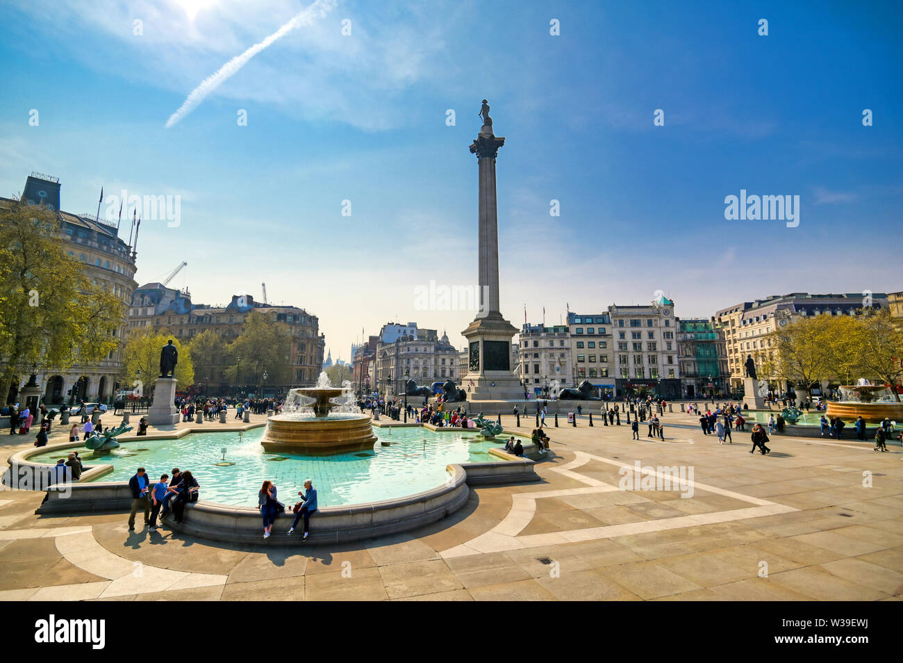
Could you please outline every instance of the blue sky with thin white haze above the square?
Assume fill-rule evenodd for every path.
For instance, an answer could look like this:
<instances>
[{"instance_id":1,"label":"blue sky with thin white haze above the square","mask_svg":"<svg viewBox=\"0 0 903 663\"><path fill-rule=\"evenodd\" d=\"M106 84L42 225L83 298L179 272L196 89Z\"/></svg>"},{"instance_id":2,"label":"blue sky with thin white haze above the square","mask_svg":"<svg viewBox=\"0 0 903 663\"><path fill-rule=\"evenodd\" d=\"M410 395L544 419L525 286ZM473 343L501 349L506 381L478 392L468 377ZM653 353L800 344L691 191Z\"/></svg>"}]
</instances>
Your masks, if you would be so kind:
<instances>
[{"instance_id":1,"label":"blue sky with thin white haze above the square","mask_svg":"<svg viewBox=\"0 0 903 663\"><path fill-rule=\"evenodd\" d=\"M70 211L96 210L101 185L180 195L178 227L142 224L140 283L182 260L172 285L196 302L265 282L271 301L321 317L334 359L396 318L461 345L473 312L417 310L414 289L476 281L468 146L486 97L507 137L501 303L517 325L525 303L531 322L543 306L558 322L565 303L593 313L657 289L689 317L903 288L889 249L903 239L898 3L336 0L164 127L309 4L0 6L0 193L38 171L60 177ZM799 226L724 219L740 189L799 195Z\"/></svg>"}]
</instances>

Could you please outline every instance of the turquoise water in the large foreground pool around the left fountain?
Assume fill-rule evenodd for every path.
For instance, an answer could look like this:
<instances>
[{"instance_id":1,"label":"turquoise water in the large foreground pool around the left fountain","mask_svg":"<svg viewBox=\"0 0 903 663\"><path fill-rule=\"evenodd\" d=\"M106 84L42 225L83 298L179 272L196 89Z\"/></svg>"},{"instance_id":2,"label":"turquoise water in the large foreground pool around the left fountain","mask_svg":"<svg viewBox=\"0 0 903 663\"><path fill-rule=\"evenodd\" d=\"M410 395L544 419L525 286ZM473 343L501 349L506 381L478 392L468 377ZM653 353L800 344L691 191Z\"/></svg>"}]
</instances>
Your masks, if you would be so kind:
<instances>
[{"instance_id":1,"label":"turquoise water in the large foreground pool around the left fountain","mask_svg":"<svg viewBox=\"0 0 903 663\"><path fill-rule=\"evenodd\" d=\"M380 440L373 451L341 453L334 456L265 453L260 438L265 428L238 433L192 433L180 440L124 442L113 453L95 457L88 449L79 449L85 467L113 465L114 470L98 481L127 481L139 466L147 469L153 481L173 467L191 470L200 483L201 500L256 506L257 491L269 479L275 481L279 499L293 504L305 479L317 489L321 507L336 507L361 502L392 500L441 486L448 478L445 466L450 462L487 462L499 460L489 454L490 447L504 442L470 442L473 433L433 433L426 428L374 428ZM218 466L223 462L234 464ZM42 453L32 462L54 463L60 453Z\"/></svg>"}]
</instances>

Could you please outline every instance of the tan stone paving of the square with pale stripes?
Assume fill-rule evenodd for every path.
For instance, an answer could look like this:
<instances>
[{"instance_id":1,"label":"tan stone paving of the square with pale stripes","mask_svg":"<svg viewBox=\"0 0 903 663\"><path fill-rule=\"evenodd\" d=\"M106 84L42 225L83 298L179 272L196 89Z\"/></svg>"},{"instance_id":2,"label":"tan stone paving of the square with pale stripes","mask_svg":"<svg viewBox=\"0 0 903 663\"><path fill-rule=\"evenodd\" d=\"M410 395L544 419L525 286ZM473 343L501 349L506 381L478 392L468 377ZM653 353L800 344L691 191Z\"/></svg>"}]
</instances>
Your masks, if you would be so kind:
<instances>
[{"instance_id":1,"label":"tan stone paving of the square with pale stripes","mask_svg":"<svg viewBox=\"0 0 903 663\"><path fill-rule=\"evenodd\" d=\"M129 532L127 514L37 516L43 493L5 490L0 600L900 598L899 446L874 453L870 442L775 434L771 454L750 455L749 433L720 445L692 416L664 422L664 442L645 425L637 442L627 425L589 427L586 417L550 428L542 481L477 488L431 526L346 546ZM0 440L3 453L26 445L13 442ZM666 490L638 479L621 490L635 462ZM662 485L664 468L683 468L685 482Z\"/></svg>"}]
</instances>

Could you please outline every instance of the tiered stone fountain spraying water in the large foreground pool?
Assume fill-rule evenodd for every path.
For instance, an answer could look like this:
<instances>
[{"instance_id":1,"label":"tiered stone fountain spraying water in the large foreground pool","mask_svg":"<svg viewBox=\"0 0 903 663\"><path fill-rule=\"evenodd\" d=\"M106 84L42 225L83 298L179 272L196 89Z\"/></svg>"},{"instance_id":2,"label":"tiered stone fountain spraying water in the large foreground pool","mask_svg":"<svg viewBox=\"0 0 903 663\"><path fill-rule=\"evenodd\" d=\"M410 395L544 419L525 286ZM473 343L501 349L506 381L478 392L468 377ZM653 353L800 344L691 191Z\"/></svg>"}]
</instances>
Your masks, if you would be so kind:
<instances>
[{"instance_id":1,"label":"tiered stone fountain spraying water in the large foreground pool","mask_svg":"<svg viewBox=\"0 0 903 663\"><path fill-rule=\"evenodd\" d=\"M321 373L316 387L289 391L283 411L267 419L260 444L269 453L325 455L372 449L376 441L350 382L333 387Z\"/></svg>"}]
</instances>

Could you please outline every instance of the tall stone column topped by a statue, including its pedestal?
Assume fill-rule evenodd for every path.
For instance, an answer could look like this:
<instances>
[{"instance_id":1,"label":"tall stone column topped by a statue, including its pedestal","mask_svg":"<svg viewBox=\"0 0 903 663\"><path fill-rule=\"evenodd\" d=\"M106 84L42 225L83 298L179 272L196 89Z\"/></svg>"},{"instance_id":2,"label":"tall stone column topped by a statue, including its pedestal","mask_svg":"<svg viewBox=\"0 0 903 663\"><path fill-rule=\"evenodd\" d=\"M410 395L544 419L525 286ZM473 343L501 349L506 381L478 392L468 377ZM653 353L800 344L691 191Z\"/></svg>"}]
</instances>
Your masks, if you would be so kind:
<instances>
[{"instance_id":1,"label":"tall stone column topped by a statue, including its pedestal","mask_svg":"<svg viewBox=\"0 0 903 663\"><path fill-rule=\"evenodd\" d=\"M492 133L489 102L479 111L483 126L470 152L479 164L479 312L461 334L469 342L470 357L462 387L468 400L520 400L524 389L511 374L511 337L517 328L498 311L498 211L496 156L505 139Z\"/></svg>"}]
</instances>

